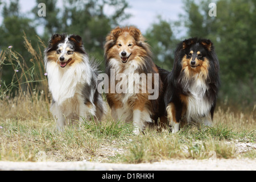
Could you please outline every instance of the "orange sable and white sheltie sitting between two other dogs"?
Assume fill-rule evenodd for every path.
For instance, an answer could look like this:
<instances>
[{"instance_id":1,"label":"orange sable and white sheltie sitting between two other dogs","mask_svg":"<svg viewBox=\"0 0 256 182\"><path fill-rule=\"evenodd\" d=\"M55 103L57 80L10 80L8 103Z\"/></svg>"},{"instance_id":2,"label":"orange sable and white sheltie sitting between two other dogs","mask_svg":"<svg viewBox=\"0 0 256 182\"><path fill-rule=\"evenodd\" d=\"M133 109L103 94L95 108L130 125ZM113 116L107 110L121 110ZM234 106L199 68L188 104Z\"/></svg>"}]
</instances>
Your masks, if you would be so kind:
<instances>
[{"instance_id":1,"label":"orange sable and white sheltie sitting between two other dogs","mask_svg":"<svg viewBox=\"0 0 256 182\"><path fill-rule=\"evenodd\" d=\"M158 68L141 31L135 27L114 28L106 37L105 63L109 90L111 84L115 88L114 92L106 94L112 117L117 121L133 122L134 133L139 134L147 123L157 118L158 98L162 92ZM158 89L158 94L152 99L149 99L152 96L149 85ZM120 93L117 88L127 92Z\"/></svg>"}]
</instances>

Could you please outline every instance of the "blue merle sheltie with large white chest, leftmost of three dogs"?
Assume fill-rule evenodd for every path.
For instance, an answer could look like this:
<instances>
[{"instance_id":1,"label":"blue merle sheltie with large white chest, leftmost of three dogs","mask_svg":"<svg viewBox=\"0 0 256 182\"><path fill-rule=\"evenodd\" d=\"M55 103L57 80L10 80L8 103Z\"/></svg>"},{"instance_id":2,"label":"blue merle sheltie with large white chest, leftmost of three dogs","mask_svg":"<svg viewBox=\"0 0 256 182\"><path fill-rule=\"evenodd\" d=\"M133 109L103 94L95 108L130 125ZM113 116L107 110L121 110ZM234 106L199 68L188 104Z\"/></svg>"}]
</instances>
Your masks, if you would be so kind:
<instances>
[{"instance_id":1,"label":"blue merle sheltie with large white chest, leftmost of three dogs","mask_svg":"<svg viewBox=\"0 0 256 182\"><path fill-rule=\"evenodd\" d=\"M79 35L55 34L44 52L44 65L52 93L51 112L57 129L70 121L105 113L104 101L97 91L97 65L89 61Z\"/></svg>"}]
</instances>

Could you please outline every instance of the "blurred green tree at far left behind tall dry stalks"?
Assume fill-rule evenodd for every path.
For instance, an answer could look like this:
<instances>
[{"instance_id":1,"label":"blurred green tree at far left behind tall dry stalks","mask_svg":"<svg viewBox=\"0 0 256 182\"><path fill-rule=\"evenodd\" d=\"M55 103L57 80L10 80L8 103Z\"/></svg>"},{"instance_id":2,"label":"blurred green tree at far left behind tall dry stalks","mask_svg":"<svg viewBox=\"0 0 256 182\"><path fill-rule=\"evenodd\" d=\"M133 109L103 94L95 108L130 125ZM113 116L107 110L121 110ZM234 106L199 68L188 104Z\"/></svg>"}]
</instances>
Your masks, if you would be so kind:
<instances>
[{"instance_id":1,"label":"blurred green tree at far left behind tall dry stalks","mask_svg":"<svg viewBox=\"0 0 256 182\"><path fill-rule=\"evenodd\" d=\"M30 53L24 47L24 33L33 44L36 44L36 31L31 19L20 13L19 0L13 0L9 5L3 3L2 17L3 23L0 26L0 49L6 50L9 46L13 46L13 51L18 52L24 58L20 60L21 64L30 65ZM7 52L6 52L7 53ZM9 56L8 54L6 55ZM17 64L17 63L13 63ZM17 75L19 73L16 73ZM11 82L14 75L13 67L4 65L2 68L1 80L5 80L6 84Z\"/></svg>"}]
</instances>

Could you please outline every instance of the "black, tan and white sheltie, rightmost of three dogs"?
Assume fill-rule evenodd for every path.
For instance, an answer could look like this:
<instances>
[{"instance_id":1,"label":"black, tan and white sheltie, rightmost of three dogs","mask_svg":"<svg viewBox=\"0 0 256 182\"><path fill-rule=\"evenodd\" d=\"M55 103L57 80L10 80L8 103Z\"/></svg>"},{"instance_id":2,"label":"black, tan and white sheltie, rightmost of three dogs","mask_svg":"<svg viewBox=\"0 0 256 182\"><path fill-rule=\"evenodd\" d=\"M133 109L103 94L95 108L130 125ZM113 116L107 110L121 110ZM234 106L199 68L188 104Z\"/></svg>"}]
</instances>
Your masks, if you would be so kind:
<instances>
[{"instance_id":1,"label":"black, tan and white sheltie, rightmost of three dogs","mask_svg":"<svg viewBox=\"0 0 256 182\"><path fill-rule=\"evenodd\" d=\"M220 86L219 69L210 40L191 38L179 44L164 94L172 133L179 131L181 121L212 125Z\"/></svg>"}]
</instances>

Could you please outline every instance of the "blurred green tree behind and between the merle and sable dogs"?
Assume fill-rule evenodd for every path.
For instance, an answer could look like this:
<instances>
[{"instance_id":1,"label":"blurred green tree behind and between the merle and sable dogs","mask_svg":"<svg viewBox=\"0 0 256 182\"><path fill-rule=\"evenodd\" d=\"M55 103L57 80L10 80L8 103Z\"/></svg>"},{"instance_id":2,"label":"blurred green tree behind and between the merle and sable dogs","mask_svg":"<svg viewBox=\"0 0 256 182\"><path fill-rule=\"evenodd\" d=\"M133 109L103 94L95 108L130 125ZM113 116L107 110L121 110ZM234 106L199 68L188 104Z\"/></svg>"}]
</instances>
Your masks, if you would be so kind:
<instances>
[{"instance_id":1,"label":"blurred green tree behind and between the merle and sable dogs","mask_svg":"<svg viewBox=\"0 0 256 182\"><path fill-rule=\"evenodd\" d=\"M125 13L126 0L81 1L66 0L63 8L57 7L57 1L41 1L46 4L46 17L37 17L38 7L34 9L38 23L45 25L45 36L65 32L82 37L85 49L96 59L103 60L105 37L118 22L129 17ZM113 13L106 15L105 9L112 8ZM102 64L102 68L103 68Z\"/></svg>"}]
</instances>

